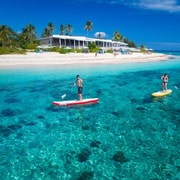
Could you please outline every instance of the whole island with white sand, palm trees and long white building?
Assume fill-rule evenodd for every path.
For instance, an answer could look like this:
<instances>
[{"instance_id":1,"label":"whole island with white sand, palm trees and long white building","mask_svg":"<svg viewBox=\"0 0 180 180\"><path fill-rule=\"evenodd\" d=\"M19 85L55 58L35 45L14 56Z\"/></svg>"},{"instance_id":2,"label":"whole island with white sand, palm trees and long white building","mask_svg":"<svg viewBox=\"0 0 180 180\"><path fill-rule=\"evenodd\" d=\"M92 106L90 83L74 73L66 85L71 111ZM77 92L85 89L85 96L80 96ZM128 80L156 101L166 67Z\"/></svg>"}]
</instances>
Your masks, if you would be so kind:
<instances>
[{"instance_id":1,"label":"whole island with white sand, palm trees and long white building","mask_svg":"<svg viewBox=\"0 0 180 180\"><path fill-rule=\"evenodd\" d=\"M91 31L93 24L87 21L84 30ZM106 39L104 32L96 32L95 38L73 36L72 26L60 25L60 33L49 23L37 38L36 28L29 24L21 33L6 25L0 26L0 66L57 65L57 64L109 64L137 63L170 59L171 56L155 53L144 45L140 48L119 31L113 39Z\"/></svg>"}]
</instances>

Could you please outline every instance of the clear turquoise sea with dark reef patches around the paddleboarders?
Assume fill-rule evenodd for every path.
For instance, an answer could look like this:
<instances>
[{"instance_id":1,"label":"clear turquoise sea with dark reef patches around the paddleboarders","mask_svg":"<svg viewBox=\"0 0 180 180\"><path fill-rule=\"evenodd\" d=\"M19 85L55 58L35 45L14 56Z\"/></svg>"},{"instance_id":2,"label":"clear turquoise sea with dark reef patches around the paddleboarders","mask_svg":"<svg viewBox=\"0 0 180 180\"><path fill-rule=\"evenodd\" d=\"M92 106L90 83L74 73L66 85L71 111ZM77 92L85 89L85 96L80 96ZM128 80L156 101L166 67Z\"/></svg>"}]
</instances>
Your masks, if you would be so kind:
<instances>
[{"instance_id":1,"label":"clear turquoise sea with dark reef patches around the paddleboarders","mask_svg":"<svg viewBox=\"0 0 180 180\"><path fill-rule=\"evenodd\" d=\"M153 98L169 75L171 95ZM98 104L57 107L83 97ZM0 70L3 180L180 179L180 54L127 65Z\"/></svg>"}]
</instances>

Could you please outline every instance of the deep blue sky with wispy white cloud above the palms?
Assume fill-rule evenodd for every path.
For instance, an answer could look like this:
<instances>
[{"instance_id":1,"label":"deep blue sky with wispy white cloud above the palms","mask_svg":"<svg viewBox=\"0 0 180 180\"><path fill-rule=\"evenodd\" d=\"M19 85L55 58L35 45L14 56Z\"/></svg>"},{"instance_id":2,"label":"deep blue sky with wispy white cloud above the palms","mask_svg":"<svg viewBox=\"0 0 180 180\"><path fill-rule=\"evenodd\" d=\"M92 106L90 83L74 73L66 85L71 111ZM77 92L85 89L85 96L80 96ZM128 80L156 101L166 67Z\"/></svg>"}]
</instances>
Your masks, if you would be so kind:
<instances>
[{"instance_id":1,"label":"deep blue sky with wispy white cloud above the palms","mask_svg":"<svg viewBox=\"0 0 180 180\"><path fill-rule=\"evenodd\" d=\"M180 0L4 0L0 24L20 32L28 24L38 36L49 22L59 34L60 24L71 24L72 35L86 36L86 21L93 23L88 33L114 31L136 43L156 50L180 50Z\"/></svg>"}]
</instances>

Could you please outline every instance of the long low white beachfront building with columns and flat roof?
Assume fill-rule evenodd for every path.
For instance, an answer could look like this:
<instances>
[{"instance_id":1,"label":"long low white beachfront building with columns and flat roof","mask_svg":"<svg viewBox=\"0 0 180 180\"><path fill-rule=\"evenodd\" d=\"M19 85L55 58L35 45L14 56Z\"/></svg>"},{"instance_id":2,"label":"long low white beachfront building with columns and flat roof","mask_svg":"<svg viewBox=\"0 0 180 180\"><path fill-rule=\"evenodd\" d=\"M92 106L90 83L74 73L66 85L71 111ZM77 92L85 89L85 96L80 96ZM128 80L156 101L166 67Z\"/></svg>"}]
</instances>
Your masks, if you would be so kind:
<instances>
[{"instance_id":1,"label":"long low white beachfront building with columns and flat roof","mask_svg":"<svg viewBox=\"0 0 180 180\"><path fill-rule=\"evenodd\" d=\"M86 49L90 43L95 43L103 50L119 50L128 46L128 44L124 42L112 41L110 39L88 38L84 36L52 35L50 37L40 38L39 41L42 47L66 47L74 49Z\"/></svg>"}]
</instances>

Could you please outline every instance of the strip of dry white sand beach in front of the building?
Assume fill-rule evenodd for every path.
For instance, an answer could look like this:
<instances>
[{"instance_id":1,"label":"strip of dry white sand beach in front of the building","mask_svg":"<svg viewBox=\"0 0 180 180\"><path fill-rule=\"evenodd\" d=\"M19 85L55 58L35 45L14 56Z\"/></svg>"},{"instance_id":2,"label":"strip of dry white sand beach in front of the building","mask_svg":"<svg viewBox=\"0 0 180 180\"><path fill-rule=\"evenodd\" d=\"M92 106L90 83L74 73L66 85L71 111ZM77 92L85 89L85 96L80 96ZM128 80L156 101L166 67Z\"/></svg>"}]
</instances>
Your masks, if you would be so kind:
<instances>
[{"instance_id":1,"label":"strip of dry white sand beach in front of the building","mask_svg":"<svg viewBox=\"0 0 180 180\"><path fill-rule=\"evenodd\" d=\"M32 65L72 65L72 64L122 64L168 60L172 57L161 53L133 54L59 54L54 52L27 53L26 55L0 55L0 68Z\"/></svg>"}]
</instances>

